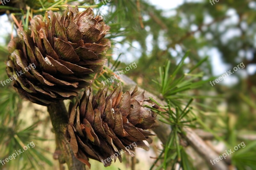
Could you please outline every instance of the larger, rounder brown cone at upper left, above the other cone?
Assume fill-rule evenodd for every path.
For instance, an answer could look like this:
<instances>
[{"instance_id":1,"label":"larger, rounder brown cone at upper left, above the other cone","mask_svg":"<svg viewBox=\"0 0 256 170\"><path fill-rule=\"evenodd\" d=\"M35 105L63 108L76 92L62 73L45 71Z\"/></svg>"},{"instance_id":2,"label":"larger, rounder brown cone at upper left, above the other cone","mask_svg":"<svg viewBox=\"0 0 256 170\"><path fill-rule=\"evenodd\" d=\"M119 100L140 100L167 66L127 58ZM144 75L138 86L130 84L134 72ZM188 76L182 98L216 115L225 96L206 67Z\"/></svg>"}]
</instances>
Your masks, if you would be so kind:
<instances>
[{"instance_id":1,"label":"larger, rounder brown cone at upper left, above the other cone","mask_svg":"<svg viewBox=\"0 0 256 170\"><path fill-rule=\"evenodd\" d=\"M19 38L8 45L6 70L10 77L22 71L14 87L28 100L46 106L71 99L92 83L90 74L102 71L111 43L103 38L110 27L101 16L94 18L90 8L79 14L77 7L68 7L62 17L52 11L45 15L45 22L37 15L28 31L18 30ZM27 68L33 64L36 69Z\"/></svg>"}]
</instances>

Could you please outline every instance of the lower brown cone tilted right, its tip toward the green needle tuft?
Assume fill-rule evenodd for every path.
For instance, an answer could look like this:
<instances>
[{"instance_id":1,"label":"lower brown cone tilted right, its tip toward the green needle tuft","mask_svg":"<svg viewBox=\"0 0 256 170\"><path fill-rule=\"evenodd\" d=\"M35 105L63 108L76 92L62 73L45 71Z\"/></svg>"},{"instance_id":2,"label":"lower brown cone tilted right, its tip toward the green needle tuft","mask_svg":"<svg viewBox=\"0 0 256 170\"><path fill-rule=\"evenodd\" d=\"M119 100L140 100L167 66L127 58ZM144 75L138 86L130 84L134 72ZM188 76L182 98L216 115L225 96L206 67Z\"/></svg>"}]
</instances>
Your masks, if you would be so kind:
<instances>
[{"instance_id":1,"label":"lower brown cone tilted right, its tip toward the green needle tuft","mask_svg":"<svg viewBox=\"0 0 256 170\"><path fill-rule=\"evenodd\" d=\"M107 91L105 86L93 96L87 88L82 99L69 106L67 137L76 158L89 167L88 158L109 166L111 159L121 162L123 152L133 157L134 147L148 150L143 140L152 142L152 134L144 129L153 126L155 114L143 107L152 106L144 101L144 92L136 87L123 94L120 85L109 96Z\"/></svg>"}]
</instances>

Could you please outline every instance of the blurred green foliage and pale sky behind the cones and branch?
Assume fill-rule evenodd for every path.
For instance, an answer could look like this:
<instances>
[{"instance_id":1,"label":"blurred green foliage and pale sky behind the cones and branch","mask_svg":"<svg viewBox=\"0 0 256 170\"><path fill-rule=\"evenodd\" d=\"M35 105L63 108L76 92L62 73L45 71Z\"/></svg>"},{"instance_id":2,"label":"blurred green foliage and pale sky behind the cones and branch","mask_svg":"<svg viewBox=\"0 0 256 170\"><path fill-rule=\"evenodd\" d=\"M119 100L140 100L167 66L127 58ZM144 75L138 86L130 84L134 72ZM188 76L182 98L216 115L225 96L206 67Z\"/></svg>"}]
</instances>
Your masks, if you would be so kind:
<instances>
[{"instance_id":1,"label":"blurred green foliage and pale sky behind the cones and branch","mask_svg":"<svg viewBox=\"0 0 256 170\"><path fill-rule=\"evenodd\" d=\"M137 68L127 71L125 75L160 99L170 100L169 106L178 107L176 111L193 98L190 103L193 111L188 116L194 119L192 124L198 135L220 155L225 148L233 148L244 141L246 147L232 155L230 167L256 169L256 1L226 0L213 5L208 0L177 1L178 6L168 8L174 2L11 0L4 6L0 5L0 13L3 14L0 18L0 25L3 26L0 80L7 79L4 64L8 57L7 44L15 36L15 31L11 31L14 24L10 13L22 17L22 12L28 10L26 5L30 6L33 15L44 14L50 9L65 10L67 3L79 5L81 10L93 7L95 13L102 15L111 26L111 33L107 37L112 41L112 48L107 57L113 65L112 69L106 67L98 75L95 88L117 68L122 69L135 62ZM160 3L160 6L165 6L164 9L159 7ZM187 57L184 57L185 54ZM241 62L245 65L244 69L239 69L214 86L210 85L210 80L232 70ZM189 72L191 69L193 74ZM166 75L166 79L163 79ZM58 169L58 162L52 159L55 143L46 108L22 100L11 83L0 87L0 159L7 158L31 141L36 145L16 160L0 165L0 169ZM170 141L172 135L166 134ZM136 168L149 169L156 162L152 169L166 166L177 169L175 163L180 162L179 156L183 169L210 168L189 148L177 146L177 143L176 147L166 151L166 146L162 146L155 137L151 152L137 153L139 164ZM152 158L143 159L145 155ZM169 166L166 161L170 162ZM92 169L125 169L129 168L130 163L131 160L127 158L124 164L115 163L104 168L101 163L93 162Z\"/></svg>"}]
</instances>

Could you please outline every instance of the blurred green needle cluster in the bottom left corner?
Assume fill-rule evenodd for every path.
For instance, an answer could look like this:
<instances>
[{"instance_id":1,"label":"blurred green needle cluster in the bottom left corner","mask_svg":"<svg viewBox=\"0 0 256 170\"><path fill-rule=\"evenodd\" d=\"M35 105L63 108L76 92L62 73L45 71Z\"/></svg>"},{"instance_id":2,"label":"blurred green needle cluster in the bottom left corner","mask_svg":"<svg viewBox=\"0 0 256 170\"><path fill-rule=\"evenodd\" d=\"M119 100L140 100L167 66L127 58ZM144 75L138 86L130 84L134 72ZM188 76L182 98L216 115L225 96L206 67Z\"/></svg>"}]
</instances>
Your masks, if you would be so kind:
<instances>
[{"instance_id":1,"label":"blurred green needle cluster in the bottom left corner","mask_svg":"<svg viewBox=\"0 0 256 170\"><path fill-rule=\"evenodd\" d=\"M22 124L23 123L19 121L16 122L15 128L1 128L1 132L3 133L1 133L0 136L2 139L0 142L2 153L0 159L4 160L5 158L8 158L12 154L16 153L15 151L19 151L21 149L21 152L24 152L17 152L20 155L17 155L15 160L6 163L6 167L19 169L21 166L23 166L23 168L25 169L44 169L43 167L40 167L40 164L42 162L45 162L48 165L52 166L52 162L44 156L45 151L44 149L40 148L38 143L38 141L45 140L37 137L38 130L36 130L35 128L38 125L38 122L25 129L21 128ZM8 136L6 136L6 134L8 134ZM24 146L27 146L31 142L33 142L34 145L31 144L32 146L30 145L30 148L24 150Z\"/></svg>"}]
</instances>

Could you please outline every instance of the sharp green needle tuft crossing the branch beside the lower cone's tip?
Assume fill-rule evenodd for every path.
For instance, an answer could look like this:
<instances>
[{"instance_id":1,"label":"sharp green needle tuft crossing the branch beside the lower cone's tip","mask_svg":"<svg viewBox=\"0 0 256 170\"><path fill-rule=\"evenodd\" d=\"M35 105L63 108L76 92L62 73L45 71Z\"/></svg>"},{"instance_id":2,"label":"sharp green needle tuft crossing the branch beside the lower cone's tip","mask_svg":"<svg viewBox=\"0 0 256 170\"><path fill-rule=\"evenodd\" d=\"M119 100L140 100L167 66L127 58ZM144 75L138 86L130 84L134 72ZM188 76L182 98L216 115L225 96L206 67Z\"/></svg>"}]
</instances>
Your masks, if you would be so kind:
<instances>
[{"instance_id":1,"label":"sharp green needle tuft crossing the branch beside the lower cone's tip","mask_svg":"<svg viewBox=\"0 0 256 170\"><path fill-rule=\"evenodd\" d=\"M150 99L153 102L156 102L154 99L152 98ZM152 107L145 106L155 110L158 113L158 115L162 117L161 119L159 119L159 121L165 124L169 124L172 129L172 132L168 135L167 143L166 145L164 145L164 150L161 152L156 162L151 166L151 169L155 166L155 164L161 158L162 155L164 156L162 164L158 166L157 169L160 169L160 168L168 169L170 167L172 167L173 169L177 163L183 169L193 169L193 165L191 163L190 158L184 151L184 147L180 145L180 140L182 140L181 133L183 133L182 128L184 126L191 127L193 125L191 125L190 123L193 121L196 121L195 118L189 119L189 120L186 119L188 117L187 115L190 110L188 106L190 105L191 102L192 102L192 99L189 101L189 103L186 105L186 107L183 110L180 110L181 108L176 107L175 111L172 111L170 101L167 107L163 107L160 105L160 107L163 108L164 111L158 111Z\"/></svg>"}]
</instances>

